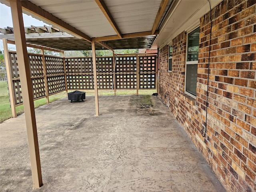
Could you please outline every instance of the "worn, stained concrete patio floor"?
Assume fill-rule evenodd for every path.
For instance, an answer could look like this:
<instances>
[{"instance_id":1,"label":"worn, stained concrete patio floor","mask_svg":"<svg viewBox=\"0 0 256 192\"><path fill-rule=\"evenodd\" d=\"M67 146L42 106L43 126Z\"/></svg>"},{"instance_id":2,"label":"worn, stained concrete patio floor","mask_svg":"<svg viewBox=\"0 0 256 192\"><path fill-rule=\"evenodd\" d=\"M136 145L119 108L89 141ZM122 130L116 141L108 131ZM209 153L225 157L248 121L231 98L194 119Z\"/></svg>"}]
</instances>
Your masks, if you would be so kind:
<instances>
[{"instance_id":1,"label":"worn, stained concrete patio floor","mask_svg":"<svg viewBox=\"0 0 256 192\"><path fill-rule=\"evenodd\" d=\"M37 108L44 185L33 189L24 114L0 124L0 191L224 192L157 96L66 98Z\"/></svg>"}]
</instances>

